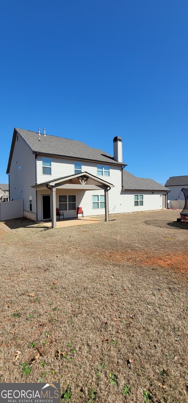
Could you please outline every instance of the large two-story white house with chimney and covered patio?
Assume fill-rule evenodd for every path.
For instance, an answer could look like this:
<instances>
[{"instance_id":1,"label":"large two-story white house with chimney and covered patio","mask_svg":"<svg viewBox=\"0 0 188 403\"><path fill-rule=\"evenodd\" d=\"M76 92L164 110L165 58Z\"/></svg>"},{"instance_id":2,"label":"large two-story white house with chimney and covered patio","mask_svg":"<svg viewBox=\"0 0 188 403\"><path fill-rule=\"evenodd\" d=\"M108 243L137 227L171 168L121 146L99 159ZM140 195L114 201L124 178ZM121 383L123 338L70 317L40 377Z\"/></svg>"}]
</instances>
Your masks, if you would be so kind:
<instances>
[{"instance_id":1,"label":"large two-story white house with chimney and covered patio","mask_svg":"<svg viewBox=\"0 0 188 403\"><path fill-rule=\"evenodd\" d=\"M75 217L159 210L167 207L168 189L124 170L122 139L114 137L114 156L85 143L14 129L7 174L10 198L23 199L24 216L50 220L56 208ZM164 196L163 196L164 195Z\"/></svg>"}]
</instances>

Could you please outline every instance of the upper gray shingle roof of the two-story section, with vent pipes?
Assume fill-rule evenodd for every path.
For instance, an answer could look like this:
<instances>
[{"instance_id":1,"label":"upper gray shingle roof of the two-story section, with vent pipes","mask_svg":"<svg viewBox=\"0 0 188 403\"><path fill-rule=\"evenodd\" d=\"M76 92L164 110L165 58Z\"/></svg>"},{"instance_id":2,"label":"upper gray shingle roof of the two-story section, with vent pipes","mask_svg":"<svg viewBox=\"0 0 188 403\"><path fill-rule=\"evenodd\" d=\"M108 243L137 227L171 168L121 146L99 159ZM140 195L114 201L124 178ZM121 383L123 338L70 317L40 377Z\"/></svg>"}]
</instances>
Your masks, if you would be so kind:
<instances>
[{"instance_id":1,"label":"upper gray shingle roof of the two-story section, with vent pipes","mask_svg":"<svg viewBox=\"0 0 188 403\"><path fill-rule=\"evenodd\" d=\"M105 164L124 165L114 160L114 157L98 148L91 148L82 141L65 139L51 135L39 136L35 131L17 129L32 151L40 154L66 156L76 159L86 159L105 162ZM40 141L39 141L40 138Z\"/></svg>"}]
</instances>

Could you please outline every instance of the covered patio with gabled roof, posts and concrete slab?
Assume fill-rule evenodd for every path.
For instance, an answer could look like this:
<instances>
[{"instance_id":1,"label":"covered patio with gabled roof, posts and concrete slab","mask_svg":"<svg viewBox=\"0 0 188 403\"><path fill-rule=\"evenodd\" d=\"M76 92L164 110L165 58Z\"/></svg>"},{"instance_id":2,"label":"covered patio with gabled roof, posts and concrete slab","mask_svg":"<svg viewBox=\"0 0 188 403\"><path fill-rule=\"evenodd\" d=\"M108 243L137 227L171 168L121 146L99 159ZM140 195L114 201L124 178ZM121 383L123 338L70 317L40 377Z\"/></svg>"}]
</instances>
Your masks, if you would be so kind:
<instances>
[{"instance_id":1,"label":"covered patio with gabled roof, posts and concrete slab","mask_svg":"<svg viewBox=\"0 0 188 403\"><path fill-rule=\"evenodd\" d=\"M104 191L104 208L105 208L105 221L109 221L109 208L108 208L108 191L114 187L112 183L108 183L107 181L103 180L102 178L95 177L92 174L89 174L88 172L81 172L78 174L74 175L69 175L66 177L62 178L57 178L53 179L48 182L43 182L37 185L32 186L33 188L36 189L36 191L39 193L44 193L43 190L47 190L49 192L49 209L51 209L51 214L50 214L50 220L48 220L48 223L46 222L47 226L51 226L52 228L57 228L60 226L71 226L71 225L81 225L81 220L84 220L83 224L89 223L94 223L96 222L95 218L91 217L84 217L84 218L74 218L71 216L71 218L74 218L76 222L80 222L80 224L71 224L72 220L65 220L67 224L62 225L63 221L57 221L56 222L56 191L59 192L59 189L68 191L70 194L72 194L72 191L94 191L94 190L103 190ZM42 195L44 196L44 195ZM76 205L74 203L74 208L80 207L79 205ZM45 206L45 205L44 205ZM44 208L43 206L43 208ZM90 212L91 215L91 212ZM49 222L51 221L51 222ZM97 220L100 222L101 220Z\"/></svg>"}]
</instances>

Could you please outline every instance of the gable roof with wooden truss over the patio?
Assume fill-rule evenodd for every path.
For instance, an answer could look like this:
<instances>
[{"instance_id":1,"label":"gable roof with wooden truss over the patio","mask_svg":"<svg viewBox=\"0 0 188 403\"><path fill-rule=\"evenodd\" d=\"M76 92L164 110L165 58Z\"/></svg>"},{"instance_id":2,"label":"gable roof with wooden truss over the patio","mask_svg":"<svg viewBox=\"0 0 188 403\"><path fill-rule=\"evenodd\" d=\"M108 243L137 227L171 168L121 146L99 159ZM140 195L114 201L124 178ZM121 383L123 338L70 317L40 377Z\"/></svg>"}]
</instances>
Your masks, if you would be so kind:
<instances>
[{"instance_id":1,"label":"gable roof with wooden truss over the patio","mask_svg":"<svg viewBox=\"0 0 188 403\"><path fill-rule=\"evenodd\" d=\"M86 185L87 183L87 185ZM104 186L104 187L114 187L114 185L112 185L112 183L109 183L107 181L104 181L101 178L95 177L92 174L89 174L88 172L81 172L79 174L73 174L73 175L68 175L65 177L61 177L61 178L56 178L56 179L52 179L51 181L48 182L43 182L43 183L39 183L36 185L33 185L31 187L33 188L39 188L42 186L46 186L46 187L58 187L62 185L67 185L69 187L85 187L85 189L87 189L89 186L92 186L94 184L98 186Z\"/></svg>"}]
</instances>

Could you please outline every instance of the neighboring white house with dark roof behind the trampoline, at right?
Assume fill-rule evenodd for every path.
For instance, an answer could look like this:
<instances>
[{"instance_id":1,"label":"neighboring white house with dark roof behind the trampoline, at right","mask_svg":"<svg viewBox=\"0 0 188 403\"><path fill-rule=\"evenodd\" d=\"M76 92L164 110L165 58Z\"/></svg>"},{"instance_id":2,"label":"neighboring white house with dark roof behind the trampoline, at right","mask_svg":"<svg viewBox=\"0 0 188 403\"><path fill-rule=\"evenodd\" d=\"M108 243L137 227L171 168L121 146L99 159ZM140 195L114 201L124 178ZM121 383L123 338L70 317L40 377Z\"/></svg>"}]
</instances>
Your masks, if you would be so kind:
<instances>
[{"instance_id":1,"label":"neighboring white house with dark roof behind the trampoline, at right","mask_svg":"<svg viewBox=\"0 0 188 403\"><path fill-rule=\"evenodd\" d=\"M177 200L178 196L182 190L182 187L188 188L188 175L180 176L180 177L169 177L166 181L165 186L170 189L170 195L168 199ZM180 200L184 200L184 194L180 194Z\"/></svg>"}]
</instances>

